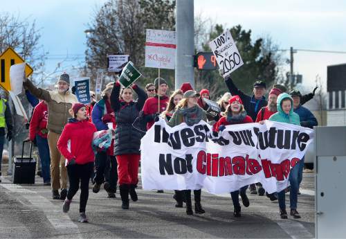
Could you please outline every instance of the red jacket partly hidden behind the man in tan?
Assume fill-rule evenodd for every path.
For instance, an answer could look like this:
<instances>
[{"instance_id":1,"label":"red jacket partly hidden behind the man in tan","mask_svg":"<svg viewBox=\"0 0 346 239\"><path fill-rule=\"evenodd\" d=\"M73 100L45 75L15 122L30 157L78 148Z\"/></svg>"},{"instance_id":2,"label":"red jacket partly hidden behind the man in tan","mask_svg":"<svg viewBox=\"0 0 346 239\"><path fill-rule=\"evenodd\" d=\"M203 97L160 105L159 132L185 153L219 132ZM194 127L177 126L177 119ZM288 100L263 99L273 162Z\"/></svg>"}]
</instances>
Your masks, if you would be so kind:
<instances>
[{"instance_id":1,"label":"red jacket partly hidden behind the man in tan","mask_svg":"<svg viewBox=\"0 0 346 239\"><path fill-rule=\"evenodd\" d=\"M31 116L29 127L29 139L33 141L36 134L47 138L47 121L48 121L48 107L44 101L38 103L34 109L33 116Z\"/></svg>"}]
</instances>

